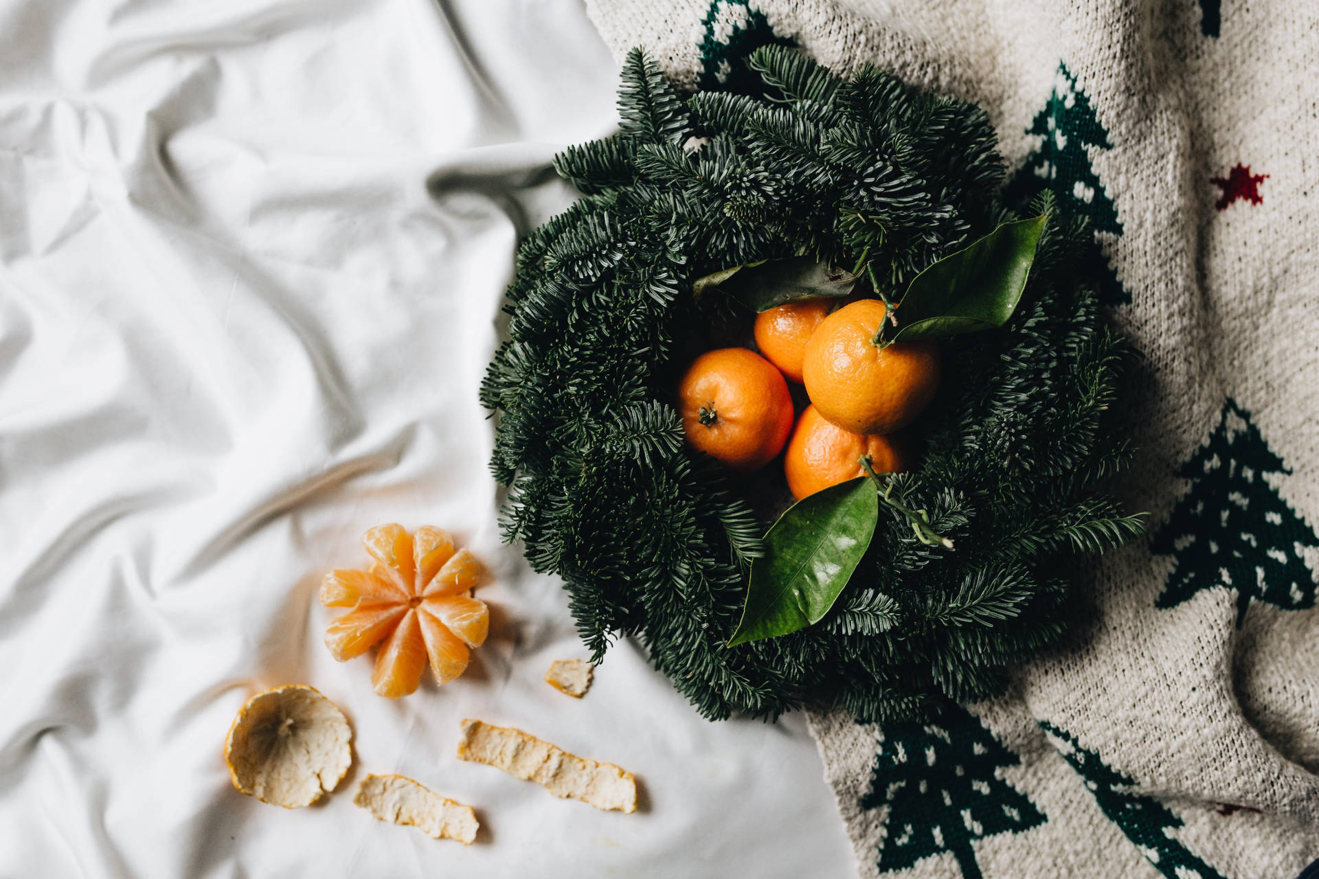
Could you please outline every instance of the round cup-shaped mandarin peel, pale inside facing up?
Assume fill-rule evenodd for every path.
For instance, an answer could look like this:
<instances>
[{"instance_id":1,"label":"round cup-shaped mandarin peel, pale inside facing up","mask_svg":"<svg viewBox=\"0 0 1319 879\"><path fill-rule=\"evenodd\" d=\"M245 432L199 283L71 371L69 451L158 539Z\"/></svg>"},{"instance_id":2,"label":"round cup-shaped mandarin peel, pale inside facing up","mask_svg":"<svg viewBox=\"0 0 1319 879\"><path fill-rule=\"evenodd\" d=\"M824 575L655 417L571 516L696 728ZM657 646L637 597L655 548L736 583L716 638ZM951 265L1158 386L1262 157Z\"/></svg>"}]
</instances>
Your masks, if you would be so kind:
<instances>
[{"instance_id":1,"label":"round cup-shaped mandarin peel, pale inside facing up","mask_svg":"<svg viewBox=\"0 0 1319 879\"><path fill-rule=\"evenodd\" d=\"M257 693L239 709L224 741L233 787L262 803L299 809L334 791L352 766L352 729L311 687Z\"/></svg>"}]
</instances>

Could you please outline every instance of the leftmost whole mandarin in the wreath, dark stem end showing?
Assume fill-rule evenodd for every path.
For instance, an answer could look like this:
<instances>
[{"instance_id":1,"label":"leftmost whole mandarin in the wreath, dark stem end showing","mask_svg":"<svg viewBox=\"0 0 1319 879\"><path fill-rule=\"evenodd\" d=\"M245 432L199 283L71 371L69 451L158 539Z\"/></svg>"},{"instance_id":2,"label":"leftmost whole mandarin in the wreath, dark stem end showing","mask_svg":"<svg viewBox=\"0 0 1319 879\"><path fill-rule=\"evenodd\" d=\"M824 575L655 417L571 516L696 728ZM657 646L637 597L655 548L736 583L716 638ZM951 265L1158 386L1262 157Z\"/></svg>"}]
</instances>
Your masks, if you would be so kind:
<instances>
[{"instance_id":1,"label":"leftmost whole mandarin in the wreath, dark stem end showing","mask_svg":"<svg viewBox=\"0 0 1319 879\"><path fill-rule=\"evenodd\" d=\"M692 447L741 472L768 464L793 430L787 382L747 348L696 357L678 385L678 414Z\"/></svg>"}]
</instances>

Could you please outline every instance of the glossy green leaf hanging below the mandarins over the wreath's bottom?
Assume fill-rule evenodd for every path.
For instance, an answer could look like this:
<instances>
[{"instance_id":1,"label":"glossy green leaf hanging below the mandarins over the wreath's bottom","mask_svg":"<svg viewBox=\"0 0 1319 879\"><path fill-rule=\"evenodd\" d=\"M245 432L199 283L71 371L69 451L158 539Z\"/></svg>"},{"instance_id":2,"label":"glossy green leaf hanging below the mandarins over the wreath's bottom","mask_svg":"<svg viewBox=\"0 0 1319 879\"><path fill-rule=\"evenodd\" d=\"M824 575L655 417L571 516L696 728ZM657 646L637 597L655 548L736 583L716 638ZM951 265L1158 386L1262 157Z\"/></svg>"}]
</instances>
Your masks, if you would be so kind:
<instances>
[{"instance_id":1,"label":"glossy green leaf hanging below the mandarins over the wreath's bottom","mask_svg":"<svg viewBox=\"0 0 1319 879\"><path fill-rule=\"evenodd\" d=\"M828 613L861 561L880 518L865 477L794 503L765 535L752 561L747 604L728 646L805 629Z\"/></svg>"}]
</instances>

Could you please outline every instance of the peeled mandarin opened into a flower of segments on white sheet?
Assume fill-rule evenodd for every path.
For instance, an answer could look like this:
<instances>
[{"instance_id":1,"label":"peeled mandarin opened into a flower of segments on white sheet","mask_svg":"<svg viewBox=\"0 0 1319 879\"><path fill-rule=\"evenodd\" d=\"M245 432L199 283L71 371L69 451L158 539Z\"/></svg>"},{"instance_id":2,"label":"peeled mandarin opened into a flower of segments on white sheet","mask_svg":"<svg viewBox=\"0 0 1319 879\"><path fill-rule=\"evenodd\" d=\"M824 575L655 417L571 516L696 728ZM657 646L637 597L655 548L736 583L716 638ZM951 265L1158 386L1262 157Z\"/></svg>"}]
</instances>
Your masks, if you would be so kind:
<instances>
[{"instance_id":1,"label":"peeled mandarin opened into a flower of segments on white sheet","mask_svg":"<svg viewBox=\"0 0 1319 879\"><path fill-rule=\"evenodd\" d=\"M489 610L472 598L481 567L467 550L454 551L447 531L431 526L409 534L380 525L361 539L375 559L369 571L331 571L321 604L351 608L326 629L326 647L339 662L379 644L371 685L398 698L417 689L430 666L447 684L467 669L470 648L489 631Z\"/></svg>"}]
</instances>

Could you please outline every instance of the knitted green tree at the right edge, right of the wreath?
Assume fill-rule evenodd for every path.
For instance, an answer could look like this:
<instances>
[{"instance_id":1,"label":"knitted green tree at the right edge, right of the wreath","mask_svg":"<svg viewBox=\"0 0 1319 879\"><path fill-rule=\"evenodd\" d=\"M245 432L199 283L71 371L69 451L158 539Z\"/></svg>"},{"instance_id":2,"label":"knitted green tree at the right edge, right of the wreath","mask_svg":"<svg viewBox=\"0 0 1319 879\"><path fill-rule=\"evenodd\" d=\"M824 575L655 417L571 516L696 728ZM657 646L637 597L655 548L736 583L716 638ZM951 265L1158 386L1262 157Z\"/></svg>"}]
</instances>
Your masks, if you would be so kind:
<instances>
[{"instance_id":1,"label":"knitted green tree at the right edge, right of the wreath","mask_svg":"<svg viewBox=\"0 0 1319 879\"><path fill-rule=\"evenodd\" d=\"M1312 608L1315 577L1301 552L1319 538L1264 478L1290 472L1250 414L1228 399L1208 441L1178 470L1191 489L1150 544L1177 560L1154 606L1223 586L1236 590L1239 626L1252 601Z\"/></svg>"}]
</instances>

